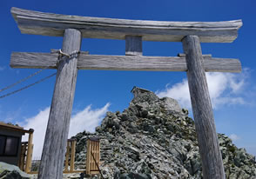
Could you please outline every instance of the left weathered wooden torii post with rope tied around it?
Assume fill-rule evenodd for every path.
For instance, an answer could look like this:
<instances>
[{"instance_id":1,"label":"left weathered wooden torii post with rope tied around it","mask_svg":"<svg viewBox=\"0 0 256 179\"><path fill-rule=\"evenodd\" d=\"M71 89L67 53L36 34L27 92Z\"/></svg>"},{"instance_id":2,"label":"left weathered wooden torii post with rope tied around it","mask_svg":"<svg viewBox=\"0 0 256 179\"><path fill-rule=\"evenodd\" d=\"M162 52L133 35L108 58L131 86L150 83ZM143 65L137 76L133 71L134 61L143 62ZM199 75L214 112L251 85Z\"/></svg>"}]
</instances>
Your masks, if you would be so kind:
<instances>
[{"instance_id":1,"label":"left weathered wooden torii post with rope tied around it","mask_svg":"<svg viewBox=\"0 0 256 179\"><path fill-rule=\"evenodd\" d=\"M80 50L81 38L79 30L64 30L63 52L71 54L75 50ZM63 177L64 154L76 83L77 56L63 56L57 66L55 89L38 179L60 179Z\"/></svg>"}]
</instances>

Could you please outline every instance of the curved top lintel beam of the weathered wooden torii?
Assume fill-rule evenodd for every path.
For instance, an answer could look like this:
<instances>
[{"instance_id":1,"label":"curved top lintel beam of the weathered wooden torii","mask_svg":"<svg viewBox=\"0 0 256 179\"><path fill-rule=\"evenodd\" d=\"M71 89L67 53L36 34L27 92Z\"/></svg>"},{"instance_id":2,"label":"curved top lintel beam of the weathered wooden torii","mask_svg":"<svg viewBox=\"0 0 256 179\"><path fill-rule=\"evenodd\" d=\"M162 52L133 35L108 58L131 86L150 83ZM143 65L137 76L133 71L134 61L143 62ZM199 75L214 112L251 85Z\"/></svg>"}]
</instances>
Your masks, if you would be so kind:
<instances>
[{"instance_id":1,"label":"curved top lintel beam of the weathered wooden torii","mask_svg":"<svg viewBox=\"0 0 256 179\"><path fill-rule=\"evenodd\" d=\"M83 37L125 39L143 36L144 41L181 42L187 35L199 36L203 43L230 43L242 26L241 20L226 22L165 22L99 17L66 16L11 8L22 33L63 36L66 29L77 29Z\"/></svg>"}]
</instances>

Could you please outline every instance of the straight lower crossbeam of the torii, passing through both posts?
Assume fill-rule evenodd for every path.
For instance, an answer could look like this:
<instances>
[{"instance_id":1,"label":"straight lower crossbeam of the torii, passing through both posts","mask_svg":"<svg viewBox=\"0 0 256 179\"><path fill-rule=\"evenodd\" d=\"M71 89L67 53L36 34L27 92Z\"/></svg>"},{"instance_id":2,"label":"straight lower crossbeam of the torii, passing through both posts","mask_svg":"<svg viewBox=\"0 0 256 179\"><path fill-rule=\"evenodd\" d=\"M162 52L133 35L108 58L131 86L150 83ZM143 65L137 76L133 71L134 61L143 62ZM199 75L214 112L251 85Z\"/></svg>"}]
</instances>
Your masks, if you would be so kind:
<instances>
[{"instance_id":1,"label":"straight lower crossbeam of the torii, passing through both posts","mask_svg":"<svg viewBox=\"0 0 256 179\"><path fill-rule=\"evenodd\" d=\"M44 60L42 60L44 59ZM12 68L54 69L57 54L13 52L10 58ZM211 58L204 56L207 72L240 72L241 63L232 58ZM78 70L145 70L186 71L185 56L105 56L80 54Z\"/></svg>"}]
</instances>

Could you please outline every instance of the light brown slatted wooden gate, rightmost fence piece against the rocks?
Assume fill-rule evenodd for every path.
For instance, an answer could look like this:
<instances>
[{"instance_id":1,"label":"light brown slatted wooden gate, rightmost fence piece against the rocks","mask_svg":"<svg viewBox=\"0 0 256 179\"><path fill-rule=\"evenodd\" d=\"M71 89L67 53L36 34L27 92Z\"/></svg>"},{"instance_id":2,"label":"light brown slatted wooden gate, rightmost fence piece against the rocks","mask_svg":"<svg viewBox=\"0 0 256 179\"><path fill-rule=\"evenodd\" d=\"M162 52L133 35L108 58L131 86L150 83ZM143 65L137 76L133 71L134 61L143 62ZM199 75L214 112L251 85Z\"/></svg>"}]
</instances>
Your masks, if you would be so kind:
<instances>
[{"instance_id":1,"label":"light brown slatted wooden gate, rightmost fence piece against the rocks","mask_svg":"<svg viewBox=\"0 0 256 179\"><path fill-rule=\"evenodd\" d=\"M90 137L87 139L86 151L86 174L99 174L100 143L99 138Z\"/></svg>"}]
</instances>

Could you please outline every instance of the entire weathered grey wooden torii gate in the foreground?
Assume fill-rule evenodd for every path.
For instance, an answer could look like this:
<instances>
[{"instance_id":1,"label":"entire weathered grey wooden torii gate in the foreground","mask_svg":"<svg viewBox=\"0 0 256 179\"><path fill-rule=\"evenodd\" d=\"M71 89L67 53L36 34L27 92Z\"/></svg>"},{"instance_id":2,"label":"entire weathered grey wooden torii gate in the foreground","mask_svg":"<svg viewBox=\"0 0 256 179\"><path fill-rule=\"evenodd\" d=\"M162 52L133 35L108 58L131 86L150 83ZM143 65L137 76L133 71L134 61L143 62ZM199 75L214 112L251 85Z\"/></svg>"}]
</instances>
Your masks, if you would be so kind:
<instances>
[{"instance_id":1,"label":"entire weathered grey wooden torii gate in the foreground","mask_svg":"<svg viewBox=\"0 0 256 179\"><path fill-rule=\"evenodd\" d=\"M77 69L186 71L203 176L206 179L226 177L205 71L239 72L241 65L237 59L202 55L200 43L231 43L242 26L241 20L211 23L140 21L64 16L17 8L12 8L11 13L22 33L64 36L61 56L56 51L14 52L11 55L13 68L57 69L38 178L62 178ZM78 54L83 37L124 39L126 56ZM142 41L182 42L185 54L142 56Z\"/></svg>"}]
</instances>

